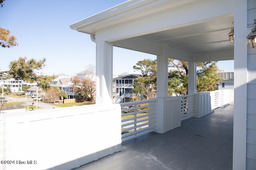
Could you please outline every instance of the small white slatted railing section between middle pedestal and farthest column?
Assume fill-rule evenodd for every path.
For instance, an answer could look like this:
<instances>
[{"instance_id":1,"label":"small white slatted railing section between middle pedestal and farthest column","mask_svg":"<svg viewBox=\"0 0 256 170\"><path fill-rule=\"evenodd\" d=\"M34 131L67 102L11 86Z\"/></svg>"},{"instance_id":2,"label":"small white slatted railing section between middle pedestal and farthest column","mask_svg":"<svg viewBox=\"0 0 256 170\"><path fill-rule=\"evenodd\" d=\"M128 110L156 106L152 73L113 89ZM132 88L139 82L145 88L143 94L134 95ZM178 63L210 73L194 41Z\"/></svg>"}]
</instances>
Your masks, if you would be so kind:
<instances>
[{"instance_id":1,"label":"small white slatted railing section between middle pedestal and farthest column","mask_svg":"<svg viewBox=\"0 0 256 170\"><path fill-rule=\"evenodd\" d=\"M183 95L181 97L181 121L194 116L195 95Z\"/></svg>"}]
</instances>

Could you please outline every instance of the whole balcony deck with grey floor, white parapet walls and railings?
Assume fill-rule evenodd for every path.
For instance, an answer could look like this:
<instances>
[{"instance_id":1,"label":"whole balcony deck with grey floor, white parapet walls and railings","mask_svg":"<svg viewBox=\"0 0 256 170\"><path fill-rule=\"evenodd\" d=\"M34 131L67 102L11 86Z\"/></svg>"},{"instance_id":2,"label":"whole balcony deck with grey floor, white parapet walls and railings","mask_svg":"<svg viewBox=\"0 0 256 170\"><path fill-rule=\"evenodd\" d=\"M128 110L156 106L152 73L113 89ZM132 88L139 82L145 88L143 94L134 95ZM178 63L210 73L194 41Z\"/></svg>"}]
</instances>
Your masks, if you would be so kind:
<instances>
[{"instance_id":1,"label":"whole balcony deck with grey floor, white parapet walls and railings","mask_svg":"<svg viewBox=\"0 0 256 170\"><path fill-rule=\"evenodd\" d=\"M98 162L118 152L109 157L118 159L111 160L116 169L228 169L232 106L227 105L232 105L233 95L232 90L217 90L120 105L0 114L0 159L38 161L0 168L70 170L100 158L82 167L104 167ZM127 159L131 161L123 161Z\"/></svg>"}]
</instances>

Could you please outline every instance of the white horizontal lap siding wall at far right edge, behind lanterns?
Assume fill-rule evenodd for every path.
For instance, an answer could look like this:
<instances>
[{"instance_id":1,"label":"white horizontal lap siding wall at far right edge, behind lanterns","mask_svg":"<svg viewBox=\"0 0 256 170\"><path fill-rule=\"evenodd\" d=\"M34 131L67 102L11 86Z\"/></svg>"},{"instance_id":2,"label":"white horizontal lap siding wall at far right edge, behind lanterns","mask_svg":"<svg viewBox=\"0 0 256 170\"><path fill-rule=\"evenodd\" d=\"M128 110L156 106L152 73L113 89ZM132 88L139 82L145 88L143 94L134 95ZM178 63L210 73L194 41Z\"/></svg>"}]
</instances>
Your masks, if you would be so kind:
<instances>
[{"instance_id":1,"label":"white horizontal lap siding wall at far right edge, behind lanterns","mask_svg":"<svg viewBox=\"0 0 256 170\"><path fill-rule=\"evenodd\" d=\"M253 27L256 19L256 1L248 0L247 23ZM256 167L256 49L248 47L247 68L247 131L246 131L246 169Z\"/></svg>"}]
</instances>

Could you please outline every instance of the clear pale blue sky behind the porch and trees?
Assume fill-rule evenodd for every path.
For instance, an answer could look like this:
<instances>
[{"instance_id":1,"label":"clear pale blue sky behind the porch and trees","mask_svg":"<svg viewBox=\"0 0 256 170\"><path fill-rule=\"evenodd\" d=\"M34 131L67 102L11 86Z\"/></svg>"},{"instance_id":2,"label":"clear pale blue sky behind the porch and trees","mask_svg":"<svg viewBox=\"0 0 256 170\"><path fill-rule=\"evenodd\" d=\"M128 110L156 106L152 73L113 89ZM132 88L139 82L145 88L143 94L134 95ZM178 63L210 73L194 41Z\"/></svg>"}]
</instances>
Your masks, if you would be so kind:
<instances>
[{"instance_id":1,"label":"clear pale blue sky behind the porch and trees","mask_svg":"<svg viewBox=\"0 0 256 170\"><path fill-rule=\"evenodd\" d=\"M6 0L0 8L0 26L9 29L19 43L0 48L0 70L8 70L18 57L46 58L44 74L61 72L73 76L89 64L95 65L95 43L88 34L70 29L69 25L126 0ZM133 65L154 55L114 47L113 73L133 73ZM218 62L220 70L233 71L234 62Z\"/></svg>"}]
</instances>

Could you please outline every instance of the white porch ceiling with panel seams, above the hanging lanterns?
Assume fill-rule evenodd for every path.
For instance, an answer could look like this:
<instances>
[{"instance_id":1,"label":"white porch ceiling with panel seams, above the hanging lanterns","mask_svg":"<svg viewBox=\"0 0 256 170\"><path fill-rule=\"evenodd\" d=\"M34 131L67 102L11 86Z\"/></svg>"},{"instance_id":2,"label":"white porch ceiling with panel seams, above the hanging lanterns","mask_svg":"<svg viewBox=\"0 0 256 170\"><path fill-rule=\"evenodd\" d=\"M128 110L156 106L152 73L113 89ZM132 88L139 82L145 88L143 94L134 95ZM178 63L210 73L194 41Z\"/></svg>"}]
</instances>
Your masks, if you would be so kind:
<instances>
[{"instance_id":1,"label":"white porch ceiling with panel seams, above the hanging lanterns","mask_svg":"<svg viewBox=\"0 0 256 170\"><path fill-rule=\"evenodd\" d=\"M233 21L232 16L227 16L140 37L188 53L230 50L234 49L228 38Z\"/></svg>"}]
</instances>

